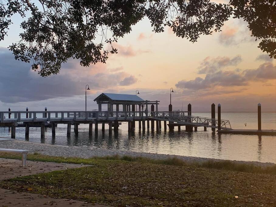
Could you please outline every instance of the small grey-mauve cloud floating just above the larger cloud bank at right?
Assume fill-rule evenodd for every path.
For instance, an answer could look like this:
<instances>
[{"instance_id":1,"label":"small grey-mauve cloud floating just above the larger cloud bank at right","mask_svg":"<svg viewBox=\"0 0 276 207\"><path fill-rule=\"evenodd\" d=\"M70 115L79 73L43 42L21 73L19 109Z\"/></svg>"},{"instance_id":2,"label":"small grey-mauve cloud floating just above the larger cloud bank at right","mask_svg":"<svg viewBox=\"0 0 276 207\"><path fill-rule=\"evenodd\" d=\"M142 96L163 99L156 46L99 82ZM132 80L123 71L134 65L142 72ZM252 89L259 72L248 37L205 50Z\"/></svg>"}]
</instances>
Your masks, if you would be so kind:
<instances>
[{"instance_id":1,"label":"small grey-mauve cloud floating just above the larger cloud bank at right","mask_svg":"<svg viewBox=\"0 0 276 207\"><path fill-rule=\"evenodd\" d=\"M242 61L241 55L236 55L233 58L229 57L216 57L216 58L205 58L200 66L198 67L198 74L213 73L227 66L237 65Z\"/></svg>"}]
</instances>

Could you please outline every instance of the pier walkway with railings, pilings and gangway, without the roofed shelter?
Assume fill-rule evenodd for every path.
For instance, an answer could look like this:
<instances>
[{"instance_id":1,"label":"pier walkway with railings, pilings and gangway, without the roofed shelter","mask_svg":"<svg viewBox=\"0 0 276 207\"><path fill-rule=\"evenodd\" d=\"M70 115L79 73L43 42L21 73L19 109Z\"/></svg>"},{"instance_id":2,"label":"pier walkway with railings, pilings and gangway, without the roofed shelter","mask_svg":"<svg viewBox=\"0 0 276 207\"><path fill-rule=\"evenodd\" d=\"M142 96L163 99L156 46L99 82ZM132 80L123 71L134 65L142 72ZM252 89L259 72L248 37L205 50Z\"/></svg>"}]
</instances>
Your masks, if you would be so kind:
<instances>
[{"instance_id":1,"label":"pier walkway with railings, pilings and gangway, without the roofed shelter","mask_svg":"<svg viewBox=\"0 0 276 207\"><path fill-rule=\"evenodd\" d=\"M135 122L139 122L139 129L154 129L156 122L156 130L161 128L161 121L164 122L164 129L168 126L170 129L174 125L186 126L186 131L197 130L197 127L207 127L212 129L220 128L221 130L231 130L230 122L227 120L212 119L199 116L185 115L184 112L159 112L159 111L18 111L18 112L0 112L0 126L9 126L12 128L11 136L15 138L15 127L26 127L25 136L29 136L29 127L41 127L41 137L44 137L44 128L51 127L52 135L55 135L55 127L57 124L67 124L67 136L70 136L71 125L74 125L74 132L78 133L79 124L89 124L89 135L92 135L92 126L95 125L95 132L98 131L98 124L102 123L102 131L104 131L105 123L109 124L109 132L118 131L119 122L128 122L129 131L135 128ZM219 127L220 126L220 127Z\"/></svg>"}]
</instances>

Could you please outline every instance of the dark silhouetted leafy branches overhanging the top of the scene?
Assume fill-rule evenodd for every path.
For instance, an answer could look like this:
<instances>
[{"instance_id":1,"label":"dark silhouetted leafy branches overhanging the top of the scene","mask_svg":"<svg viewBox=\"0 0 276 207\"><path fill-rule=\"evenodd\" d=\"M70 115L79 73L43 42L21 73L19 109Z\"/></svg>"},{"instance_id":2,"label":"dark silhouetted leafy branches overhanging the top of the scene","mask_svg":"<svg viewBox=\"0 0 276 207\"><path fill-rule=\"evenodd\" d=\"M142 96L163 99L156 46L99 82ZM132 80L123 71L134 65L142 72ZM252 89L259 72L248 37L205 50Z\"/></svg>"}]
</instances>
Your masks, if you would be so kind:
<instances>
[{"instance_id":1,"label":"dark silhouetted leafy branches overhanging the top of the scene","mask_svg":"<svg viewBox=\"0 0 276 207\"><path fill-rule=\"evenodd\" d=\"M118 53L112 43L144 17L154 32L169 26L191 42L220 32L231 15L244 18L252 35L261 39L261 50L276 58L275 2L270 0L0 0L0 41L16 13L23 18L23 32L9 49L17 60L32 62L41 76L59 73L69 58L80 59L83 66L105 63L109 52Z\"/></svg>"}]
</instances>

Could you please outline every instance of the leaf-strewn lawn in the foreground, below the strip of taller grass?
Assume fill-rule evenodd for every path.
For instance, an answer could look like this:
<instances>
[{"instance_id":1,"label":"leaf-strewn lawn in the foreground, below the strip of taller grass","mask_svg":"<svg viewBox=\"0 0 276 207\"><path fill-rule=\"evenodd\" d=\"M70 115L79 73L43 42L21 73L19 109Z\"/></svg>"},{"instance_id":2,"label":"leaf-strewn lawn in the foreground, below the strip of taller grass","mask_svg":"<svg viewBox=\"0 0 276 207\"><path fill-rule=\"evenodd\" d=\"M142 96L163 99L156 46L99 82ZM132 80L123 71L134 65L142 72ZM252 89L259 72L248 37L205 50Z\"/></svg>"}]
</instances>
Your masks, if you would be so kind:
<instances>
[{"instance_id":1,"label":"leaf-strewn lawn in the foreground, below the strip of taller grass","mask_svg":"<svg viewBox=\"0 0 276 207\"><path fill-rule=\"evenodd\" d=\"M88 160L95 165L4 180L0 188L19 192L29 188L32 193L113 206L274 206L276 202L275 175L179 166L175 160L165 165L114 156L87 159L85 164Z\"/></svg>"}]
</instances>

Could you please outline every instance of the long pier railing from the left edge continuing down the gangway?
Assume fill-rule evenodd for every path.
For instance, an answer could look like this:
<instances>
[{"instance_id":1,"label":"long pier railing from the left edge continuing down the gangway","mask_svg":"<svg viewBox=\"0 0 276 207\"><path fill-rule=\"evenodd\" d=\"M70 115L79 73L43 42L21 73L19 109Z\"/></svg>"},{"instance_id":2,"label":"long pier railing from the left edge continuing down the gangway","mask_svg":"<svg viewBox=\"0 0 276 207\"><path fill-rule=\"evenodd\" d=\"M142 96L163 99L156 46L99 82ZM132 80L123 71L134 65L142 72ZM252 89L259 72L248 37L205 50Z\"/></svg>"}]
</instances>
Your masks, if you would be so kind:
<instances>
[{"instance_id":1,"label":"long pier railing from the left edge continuing down the gangway","mask_svg":"<svg viewBox=\"0 0 276 207\"><path fill-rule=\"evenodd\" d=\"M218 128L218 119L185 115L184 112L111 112L111 111L20 111L0 112L0 123L11 122L66 122L157 119L169 122ZM221 120L221 129L231 129L228 120Z\"/></svg>"}]
</instances>

